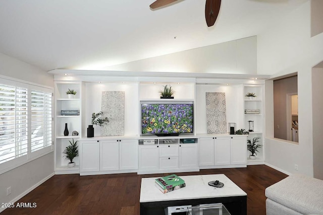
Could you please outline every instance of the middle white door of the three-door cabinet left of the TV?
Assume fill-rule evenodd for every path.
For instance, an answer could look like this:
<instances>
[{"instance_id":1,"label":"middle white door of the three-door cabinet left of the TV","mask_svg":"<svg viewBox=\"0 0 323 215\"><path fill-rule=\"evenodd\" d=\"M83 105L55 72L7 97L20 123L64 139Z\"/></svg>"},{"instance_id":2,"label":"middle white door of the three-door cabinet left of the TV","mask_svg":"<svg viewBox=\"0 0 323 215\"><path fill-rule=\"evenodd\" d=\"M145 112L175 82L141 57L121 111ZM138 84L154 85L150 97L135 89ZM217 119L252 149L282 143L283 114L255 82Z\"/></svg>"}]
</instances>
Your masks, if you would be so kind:
<instances>
[{"instance_id":1,"label":"middle white door of the three-door cabinet left of the TV","mask_svg":"<svg viewBox=\"0 0 323 215\"><path fill-rule=\"evenodd\" d=\"M119 170L119 141L100 141L100 171Z\"/></svg>"}]
</instances>

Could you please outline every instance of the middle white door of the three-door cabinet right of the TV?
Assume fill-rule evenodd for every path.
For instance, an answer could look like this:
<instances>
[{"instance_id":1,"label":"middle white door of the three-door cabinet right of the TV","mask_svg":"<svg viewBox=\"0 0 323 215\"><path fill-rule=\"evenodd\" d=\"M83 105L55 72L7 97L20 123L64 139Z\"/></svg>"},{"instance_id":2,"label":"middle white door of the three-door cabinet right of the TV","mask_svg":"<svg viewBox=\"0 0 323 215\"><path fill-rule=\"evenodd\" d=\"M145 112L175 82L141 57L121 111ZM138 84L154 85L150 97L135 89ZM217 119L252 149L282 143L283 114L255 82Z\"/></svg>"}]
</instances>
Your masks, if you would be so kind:
<instances>
[{"instance_id":1,"label":"middle white door of the three-door cabinet right of the TV","mask_svg":"<svg viewBox=\"0 0 323 215\"><path fill-rule=\"evenodd\" d=\"M214 165L230 165L230 137L214 137Z\"/></svg>"}]
</instances>

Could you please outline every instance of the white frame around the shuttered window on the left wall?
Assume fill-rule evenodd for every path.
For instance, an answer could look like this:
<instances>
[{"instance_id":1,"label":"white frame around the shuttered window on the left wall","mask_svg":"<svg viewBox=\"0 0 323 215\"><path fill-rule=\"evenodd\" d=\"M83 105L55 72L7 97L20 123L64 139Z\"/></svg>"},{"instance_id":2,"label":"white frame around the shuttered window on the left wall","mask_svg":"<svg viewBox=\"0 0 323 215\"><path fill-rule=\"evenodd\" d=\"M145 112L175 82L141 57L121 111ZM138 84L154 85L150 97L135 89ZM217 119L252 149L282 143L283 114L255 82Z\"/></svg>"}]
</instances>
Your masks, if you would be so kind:
<instances>
[{"instance_id":1,"label":"white frame around the shuttered window on the left wall","mask_svg":"<svg viewBox=\"0 0 323 215\"><path fill-rule=\"evenodd\" d=\"M12 160L6 161L4 163L0 164L0 174L5 173L7 171L10 171L14 168L17 168L23 164L26 164L32 160L35 160L37 158L40 158L41 156L44 156L48 153L53 152L53 133L54 127L53 127L53 109L54 109L54 103L53 103L53 96L51 96L51 142L52 144L50 146L47 146L43 149L37 150L35 152L31 152L31 91L42 91L45 93L50 93L53 95L53 88L48 86L42 86L39 84L31 83L31 82L25 82L18 79L12 79L5 76L0 76L0 84L3 85L9 85L9 86L15 86L19 88L26 88L28 90L28 150L27 155L23 155L18 158L14 158Z\"/></svg>"}]
</instances>

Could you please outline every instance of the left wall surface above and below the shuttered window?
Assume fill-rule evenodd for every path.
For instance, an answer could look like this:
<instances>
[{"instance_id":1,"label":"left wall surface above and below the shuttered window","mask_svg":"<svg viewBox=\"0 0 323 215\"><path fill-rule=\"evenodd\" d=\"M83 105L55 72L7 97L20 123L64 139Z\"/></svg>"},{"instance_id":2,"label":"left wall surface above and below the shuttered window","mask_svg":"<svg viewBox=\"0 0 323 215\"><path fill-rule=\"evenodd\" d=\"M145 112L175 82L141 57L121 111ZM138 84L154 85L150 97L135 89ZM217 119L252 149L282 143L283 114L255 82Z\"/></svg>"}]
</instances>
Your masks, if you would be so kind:
<instances>
[{"instance_id":1,"label":"left wall surface above and below the shuttered window","mask_svg":"<svg viewBox=\"0 0 323 215\"><path fill-rule=\"evenodd\" d=\"M53 87L53 77L30 64L0 53L0 74ZM14 202L54 174L53 152L0 175L0 202ZM7 188L12 193L7 196ZM0 211L5 208L0 208Z\"/></svg>"}]
</instances>

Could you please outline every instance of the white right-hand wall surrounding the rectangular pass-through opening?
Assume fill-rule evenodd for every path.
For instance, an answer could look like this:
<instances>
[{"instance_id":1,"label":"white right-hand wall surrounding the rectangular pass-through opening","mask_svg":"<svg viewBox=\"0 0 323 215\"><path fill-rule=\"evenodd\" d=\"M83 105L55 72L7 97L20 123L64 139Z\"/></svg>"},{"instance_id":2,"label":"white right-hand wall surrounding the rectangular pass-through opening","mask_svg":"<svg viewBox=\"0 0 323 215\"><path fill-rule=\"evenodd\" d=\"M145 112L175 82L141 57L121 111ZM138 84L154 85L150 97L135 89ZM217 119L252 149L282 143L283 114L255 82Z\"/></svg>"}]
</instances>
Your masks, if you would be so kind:
<instances>
[{"instance_id":1,"label":"white right-hand wall surrounding the rectangular pass-through opening","mask_svg":"<svg viewBox=\"0 0 323 215\"><path fill-rule=\"evenodd\" d=\"M323 34L310 37L310 19L310 2L306 2L258 35L257 66L258 74L273 77L298 73L299 145L270 138L274 126L270 107L266 109L265 162L288 173L313 176L311 68L323 59ZM266 101L272 99L272 93L266 91Z\"/></svg>"}]
</instances>

